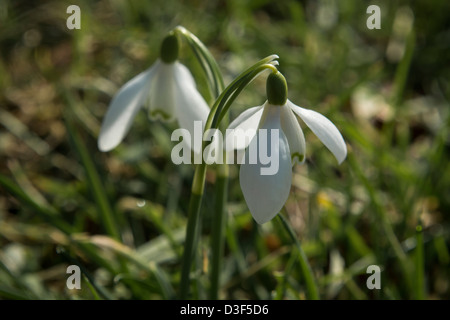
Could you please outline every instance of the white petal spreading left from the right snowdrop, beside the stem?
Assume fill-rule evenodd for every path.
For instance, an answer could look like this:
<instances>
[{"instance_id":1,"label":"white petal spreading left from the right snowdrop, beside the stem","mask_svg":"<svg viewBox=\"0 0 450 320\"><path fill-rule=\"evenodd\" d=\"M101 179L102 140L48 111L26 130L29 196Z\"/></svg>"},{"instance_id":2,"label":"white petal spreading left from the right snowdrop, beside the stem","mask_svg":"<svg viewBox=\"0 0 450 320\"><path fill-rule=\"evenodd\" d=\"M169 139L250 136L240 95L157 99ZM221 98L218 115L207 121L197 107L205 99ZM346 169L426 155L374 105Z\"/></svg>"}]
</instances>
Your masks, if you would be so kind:
<instances>
[{"instance_id":1,"label":"white petal spreading left from the right snowdrop, beside the stem","mask_svg":"<svg viewBox=\"0 0 450 320\"><path fill-rule=\"evenodd\" d=\"M248 108L230 123L225 135L225 148L243 150L255 137L264 106Z\"/></svg>"}]
</instances>

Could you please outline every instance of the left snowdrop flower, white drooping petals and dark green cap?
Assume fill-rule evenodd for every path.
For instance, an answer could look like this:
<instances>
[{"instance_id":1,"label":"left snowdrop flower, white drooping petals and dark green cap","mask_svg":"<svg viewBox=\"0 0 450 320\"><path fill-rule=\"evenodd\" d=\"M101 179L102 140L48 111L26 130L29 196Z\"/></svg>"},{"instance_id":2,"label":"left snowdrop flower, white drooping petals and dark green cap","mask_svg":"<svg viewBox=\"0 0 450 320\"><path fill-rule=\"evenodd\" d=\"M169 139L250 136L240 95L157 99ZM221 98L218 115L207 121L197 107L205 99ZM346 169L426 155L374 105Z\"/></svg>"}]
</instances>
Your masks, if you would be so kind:
<instances>
[{"instance_id":1,"label":"left snowdrop flower, white drooping petals and dark green cap","mask_svg":"<svg viewBox=\"0 0 450 320\"><path fill-rule=\"evenodd\" d=\"M101 151L109 151L123 140L141 107L147 110L150 119L176 119L179 126L190 133L194 121L206 122L208 104L197 91L189 70L177 61L178 41L175 34L169 34L162 42L160 59L128 81L115 95L100 129L98 147ZM194 145L193 136L183 136L183 142L189 147Z\"/></svg>"}]
</instances>

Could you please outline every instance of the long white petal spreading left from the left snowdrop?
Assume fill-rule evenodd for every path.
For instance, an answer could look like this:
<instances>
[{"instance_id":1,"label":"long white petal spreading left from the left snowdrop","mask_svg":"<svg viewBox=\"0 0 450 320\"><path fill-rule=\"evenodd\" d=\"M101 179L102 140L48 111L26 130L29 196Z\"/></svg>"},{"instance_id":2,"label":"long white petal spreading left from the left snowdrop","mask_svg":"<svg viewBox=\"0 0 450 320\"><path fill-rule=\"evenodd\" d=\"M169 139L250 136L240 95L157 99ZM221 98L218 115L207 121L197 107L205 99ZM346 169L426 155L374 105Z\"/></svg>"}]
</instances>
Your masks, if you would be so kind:
<instances>
[{"instance_id":1,"label":"long white petal spreading left from the left snowdrop","mask_svg":"<svg viewBox=\"0 0 450 320\"><path fill-rule=\"evenodd\" d=\"M114 96L98 137L98 148L101 151L115 148L128 133L134 117L144 103L149 84L157 69L158 63L155 63L125 83Z\"/></svg>"}]
</instances>

